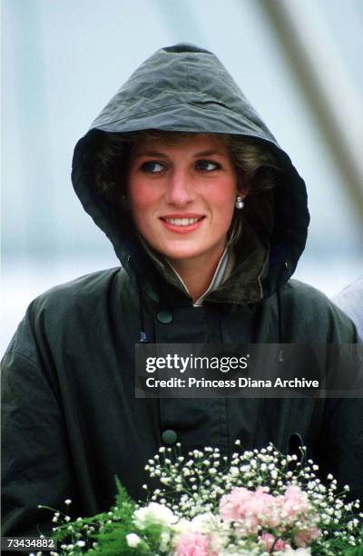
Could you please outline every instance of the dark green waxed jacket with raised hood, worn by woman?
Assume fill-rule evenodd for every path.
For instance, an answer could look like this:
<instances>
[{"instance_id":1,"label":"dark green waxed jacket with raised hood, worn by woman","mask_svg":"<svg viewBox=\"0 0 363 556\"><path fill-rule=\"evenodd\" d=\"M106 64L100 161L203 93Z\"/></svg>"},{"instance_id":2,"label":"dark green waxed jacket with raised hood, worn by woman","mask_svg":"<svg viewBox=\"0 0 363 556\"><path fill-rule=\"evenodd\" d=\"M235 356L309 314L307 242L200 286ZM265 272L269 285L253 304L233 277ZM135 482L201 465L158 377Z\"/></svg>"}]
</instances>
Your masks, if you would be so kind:
<instances>
[{"instance_id":1,"label":"dark green waxed jacket with raised hood, worn by woman","mask_svg":"<svg viewBox=\"0 0 363 556\"><path fill-rule=\"evenodd\" d=\"M100 194L94 153L108 133L145 129L235 134L270 146L282 174L247 199L235 264L202 307L140 243L130 213ZM309 225L307 194L289 156L221 62L195 45L162 48L113 96L74 151L84 210L121 266L54 287L30 304L3 362L4 533L49 531L112 503L117 475L142 498L143 470L161 445L205 445L231 455L268 442L306 444L322 476L363 493L362 401L355 399L135 399L134 349L152 343L355 343L348 317L314 288L290 280ZM170 433L170 431L174 432Z\"/></svg>"}]
</instances>

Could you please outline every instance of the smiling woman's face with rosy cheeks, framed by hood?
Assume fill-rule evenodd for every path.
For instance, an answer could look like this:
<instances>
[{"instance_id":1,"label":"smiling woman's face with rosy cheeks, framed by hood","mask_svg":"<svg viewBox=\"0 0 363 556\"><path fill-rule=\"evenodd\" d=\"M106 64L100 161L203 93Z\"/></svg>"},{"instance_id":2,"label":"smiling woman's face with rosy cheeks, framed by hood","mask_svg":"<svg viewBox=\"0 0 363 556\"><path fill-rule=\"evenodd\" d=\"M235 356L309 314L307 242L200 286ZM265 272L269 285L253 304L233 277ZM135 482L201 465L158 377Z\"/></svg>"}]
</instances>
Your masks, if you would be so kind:
<instances>
[{"instance_id":1,"label":"smiling woman's face with rosy cheeks, framed by hood","mask_svg":"<svg viewBox=\"0 0 363 556\"><path fill-rule=\"evenodd\" d=\"M170 261L218 260L231 225L236 184L231 154L216 135L196 134L172 146L162 140L139 144L129 174L134 223Z\"/></svg>"}]
</instances>

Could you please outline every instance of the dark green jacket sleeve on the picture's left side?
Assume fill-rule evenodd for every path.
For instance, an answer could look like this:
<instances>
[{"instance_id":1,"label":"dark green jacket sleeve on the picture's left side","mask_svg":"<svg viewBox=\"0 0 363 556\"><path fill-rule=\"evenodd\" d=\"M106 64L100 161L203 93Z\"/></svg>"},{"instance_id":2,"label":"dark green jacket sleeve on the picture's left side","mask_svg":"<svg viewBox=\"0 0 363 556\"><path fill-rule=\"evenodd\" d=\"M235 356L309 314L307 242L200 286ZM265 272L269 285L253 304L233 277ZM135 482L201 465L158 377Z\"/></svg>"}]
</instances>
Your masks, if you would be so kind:
<instances>
[{"instance_id":1,"label":"dark green jacket sleeve on the picture's left side","mask_svg":"<svg viewBox=\"0 0 363 556\"><path fill-rule=\"evenodd\" d=\"M64 511L77 488L56 379L41 356L30 310L19 325L2 365L3 535L49 533L53 513Z\"/></svg>"}]
</instances>

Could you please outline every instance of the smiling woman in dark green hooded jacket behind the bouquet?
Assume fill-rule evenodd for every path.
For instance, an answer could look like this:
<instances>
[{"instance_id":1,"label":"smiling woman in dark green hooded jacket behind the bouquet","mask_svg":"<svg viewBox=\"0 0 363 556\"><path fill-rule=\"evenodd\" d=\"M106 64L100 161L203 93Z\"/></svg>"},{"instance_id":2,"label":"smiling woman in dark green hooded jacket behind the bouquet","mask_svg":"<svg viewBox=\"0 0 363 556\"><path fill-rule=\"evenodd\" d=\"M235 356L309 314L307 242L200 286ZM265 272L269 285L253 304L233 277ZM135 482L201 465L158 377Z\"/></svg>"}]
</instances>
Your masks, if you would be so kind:
<instances>
[{"instance_id":1,"label":"smiling woman in dark green hooded jacket behind the bouquet","mask_svg":"<svg viewBox=\"0 0 363 556\"><path fill-rule=\"evenodd\" d=\"M323 399L135 399L136 343L354 343L290 281L309 224L304 183L210 52L163 48L76 145L74 188L122 268L31 303L5 355L5 534L50 529L37 504L93 514L114 476L142 497L162 444L231 454L306 443L361 492L362 405Z\"/></svg>"}]
</instances>

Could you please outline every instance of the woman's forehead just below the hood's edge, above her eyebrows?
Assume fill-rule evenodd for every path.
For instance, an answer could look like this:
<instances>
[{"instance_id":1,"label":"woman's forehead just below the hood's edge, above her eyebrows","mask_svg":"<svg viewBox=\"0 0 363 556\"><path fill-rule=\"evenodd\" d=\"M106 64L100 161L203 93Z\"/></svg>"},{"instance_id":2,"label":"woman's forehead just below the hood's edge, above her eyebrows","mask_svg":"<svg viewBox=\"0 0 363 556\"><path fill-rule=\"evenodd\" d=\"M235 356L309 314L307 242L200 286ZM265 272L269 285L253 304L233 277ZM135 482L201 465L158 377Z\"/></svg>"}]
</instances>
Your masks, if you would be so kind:
<instances>
[{"instance_id":1,"label":"woman's forehead just below the hood's edge, above her eyebrows","mask_svg":"<svg viewBox=\"0 0 363 556\"><path fill-rule=\"evenodd\" d=\"M168 134L165 137L146 139L134 145L135 155L160 152L172 153L173 151L184 152L215 152L221 155L229 155L226 140L217 134Z\"/></svg>"}]
</instances>

